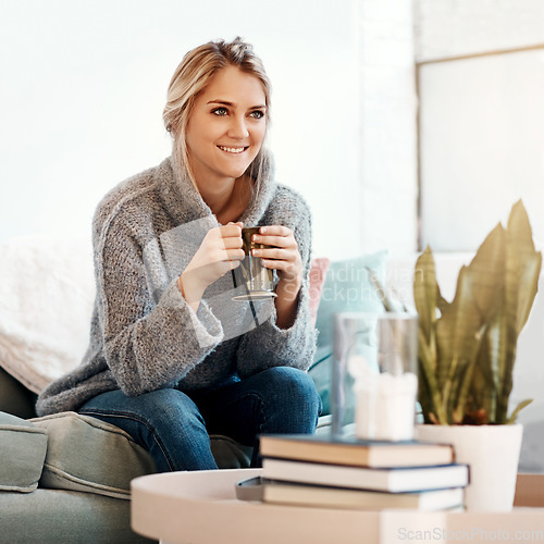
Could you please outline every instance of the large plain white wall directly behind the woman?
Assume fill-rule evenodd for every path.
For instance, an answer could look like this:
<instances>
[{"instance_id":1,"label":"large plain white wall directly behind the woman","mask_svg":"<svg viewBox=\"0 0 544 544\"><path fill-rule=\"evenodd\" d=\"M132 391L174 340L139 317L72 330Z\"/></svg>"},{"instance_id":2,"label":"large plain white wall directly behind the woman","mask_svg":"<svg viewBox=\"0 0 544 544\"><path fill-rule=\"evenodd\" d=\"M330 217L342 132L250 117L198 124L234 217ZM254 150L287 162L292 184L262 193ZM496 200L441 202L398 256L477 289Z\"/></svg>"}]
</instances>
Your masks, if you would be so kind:
<instances>
[{"instance_id":1,"label":"large plain white wall directly behind the woman","mask_svg":"<svg viewBox=\"0 0 544 544\"><path fill-rule=\"evenodd\" d=\"M314 214L314 254L359 240L357 0L2 0L0 242L89 235L125 177L170 153L161 113L183 54L242 35L273 83L277 178Z\"/></svg>"}]
</instances>

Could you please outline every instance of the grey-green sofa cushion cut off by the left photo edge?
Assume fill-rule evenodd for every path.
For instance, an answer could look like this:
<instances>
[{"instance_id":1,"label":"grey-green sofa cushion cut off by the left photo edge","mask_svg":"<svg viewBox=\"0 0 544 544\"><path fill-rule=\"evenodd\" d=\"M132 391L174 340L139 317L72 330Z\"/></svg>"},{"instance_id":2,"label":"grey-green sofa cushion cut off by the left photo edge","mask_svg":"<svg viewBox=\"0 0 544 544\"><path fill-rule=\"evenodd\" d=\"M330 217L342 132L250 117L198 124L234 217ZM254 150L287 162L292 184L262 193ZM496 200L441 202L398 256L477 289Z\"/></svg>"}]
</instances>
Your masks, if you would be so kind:
<instances>
[{"instance_id":1,"label":"grey-green sofa cushion cut off by the left photo edge","mask_svg":"<svg viewBox=\"0 0 544 544\"><path fill-rule=\"evenodd\" d=\"M46 449L44 429L0 412L0 491L34 491L41 475Z\"/></svg>"}]
</instances>

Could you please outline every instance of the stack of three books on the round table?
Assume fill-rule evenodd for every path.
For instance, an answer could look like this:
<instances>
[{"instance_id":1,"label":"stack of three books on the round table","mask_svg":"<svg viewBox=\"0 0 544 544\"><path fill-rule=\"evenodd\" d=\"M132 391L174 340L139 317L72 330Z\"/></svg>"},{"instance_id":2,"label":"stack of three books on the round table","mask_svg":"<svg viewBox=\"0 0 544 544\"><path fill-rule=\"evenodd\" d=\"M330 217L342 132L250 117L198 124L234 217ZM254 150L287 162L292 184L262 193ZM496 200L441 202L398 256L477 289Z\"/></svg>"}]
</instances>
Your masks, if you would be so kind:
<instances>
[{"instance_id":1,"label":"stack of three books on the round table","mask_svg":"<svg viewBox=\"0 0 544 544\"><path fill-rule=\"evenodd\" d=\"M326 508L462 509L469 467L452 445L262 435L265 503Z\"/></svg>"}]
</instances>

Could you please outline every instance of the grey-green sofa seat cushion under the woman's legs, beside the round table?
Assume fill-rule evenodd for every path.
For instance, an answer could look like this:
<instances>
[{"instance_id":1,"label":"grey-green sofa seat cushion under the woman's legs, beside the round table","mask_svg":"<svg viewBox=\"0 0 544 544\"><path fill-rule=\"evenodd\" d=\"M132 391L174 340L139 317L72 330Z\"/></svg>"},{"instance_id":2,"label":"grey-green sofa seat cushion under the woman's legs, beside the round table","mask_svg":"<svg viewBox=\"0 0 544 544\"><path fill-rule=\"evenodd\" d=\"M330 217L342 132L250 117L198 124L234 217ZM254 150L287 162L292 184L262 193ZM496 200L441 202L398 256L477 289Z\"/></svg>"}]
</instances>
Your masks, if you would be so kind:
<instances>
[{"instance_id":1,"label":"grey-green sofa seat cushion under the woman's legs, beside the round table","mask_svg":"<svg viewBox=\"0 0 544 544\"><path fill-rule=\"evenodd\" d=\"M128 499L131 480L156 471L127 433L96 418L62 412L32 422L49 436L40 487Z\"/></svg>"}]
</instances>

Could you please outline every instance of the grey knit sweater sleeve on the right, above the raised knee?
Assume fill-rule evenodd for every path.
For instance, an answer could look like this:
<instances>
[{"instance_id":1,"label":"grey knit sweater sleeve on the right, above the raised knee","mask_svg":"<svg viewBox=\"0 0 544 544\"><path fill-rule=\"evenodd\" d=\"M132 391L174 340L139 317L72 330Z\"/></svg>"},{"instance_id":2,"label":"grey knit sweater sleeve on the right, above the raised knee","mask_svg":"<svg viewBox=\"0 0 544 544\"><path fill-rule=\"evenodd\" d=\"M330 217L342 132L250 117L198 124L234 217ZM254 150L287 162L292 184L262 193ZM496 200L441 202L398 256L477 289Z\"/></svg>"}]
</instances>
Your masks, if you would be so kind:
<instances>
[{"instance_id":1,"label":"grey knit sweater sleeve on the right, above the raised knee","mask_svg":"<svg viewBox=\"0 0 544 544\"><path fill-rule=\"evenodd\" d=\"M294 367L308 370L316 351L316 330L311 321L309 305L309 273L311 258L311 215L300 200L293 214L292 224L302 259L302 285L300 287L297 314L289 329L276 325L275 309L261 325L246 333L237 353L237 370L240 378L255 374L271 367Z\"/></svg>"}]
</instances>

